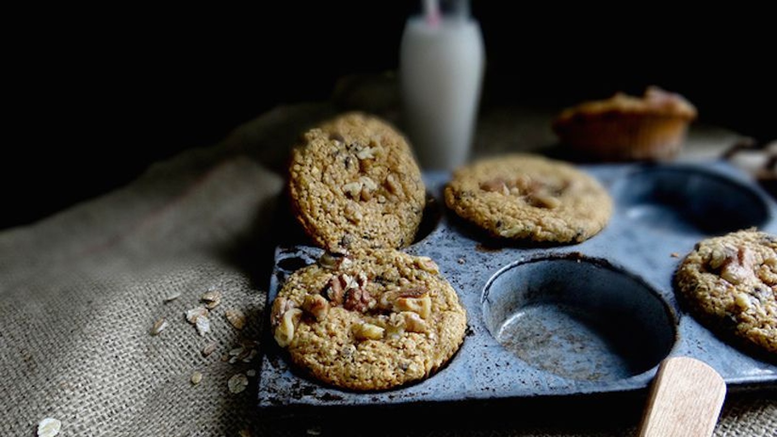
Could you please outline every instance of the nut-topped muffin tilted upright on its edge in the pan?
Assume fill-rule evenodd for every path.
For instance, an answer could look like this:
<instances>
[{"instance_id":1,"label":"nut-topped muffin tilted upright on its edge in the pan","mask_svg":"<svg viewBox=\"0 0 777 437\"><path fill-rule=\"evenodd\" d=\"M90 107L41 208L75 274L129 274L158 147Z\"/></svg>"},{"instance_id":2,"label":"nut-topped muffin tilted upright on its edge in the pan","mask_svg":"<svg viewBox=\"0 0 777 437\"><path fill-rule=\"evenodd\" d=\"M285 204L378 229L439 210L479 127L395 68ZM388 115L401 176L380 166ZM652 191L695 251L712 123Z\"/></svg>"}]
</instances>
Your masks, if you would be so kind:
<instances>
[{"instance_id":1,"label":"nut-topped muffin tilted upright on its edge in the pan","mask_svg":"<svg viewBox=\"0 0 777 437\"><path fill-rule=\"evenodd\" d=\"M292 150L291 206L315 244L347 253L413 242L425 187L406 139L378 117L351 112L305 132Z\"/></svg>"}]
</instances>

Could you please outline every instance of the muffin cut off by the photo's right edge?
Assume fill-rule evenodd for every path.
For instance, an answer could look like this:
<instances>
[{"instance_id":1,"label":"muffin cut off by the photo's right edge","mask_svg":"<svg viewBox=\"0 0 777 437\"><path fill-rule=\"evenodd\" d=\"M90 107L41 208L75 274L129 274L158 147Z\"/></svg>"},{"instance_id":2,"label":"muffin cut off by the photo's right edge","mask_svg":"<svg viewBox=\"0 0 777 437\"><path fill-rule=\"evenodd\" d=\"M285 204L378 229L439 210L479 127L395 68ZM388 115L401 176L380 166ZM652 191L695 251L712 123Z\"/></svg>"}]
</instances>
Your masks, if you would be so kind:
<instances>
[{"instance_id":1,"label":"muffin cut off by the photo's right edge","mask_svg":"<svg viewBox=\"0 0 777 437\"><path fill-rule=\"evenodd\" d=\"M777 236L744 229L703 239L674 283L706 326L777 354Z\"/></svg>"}]
</instances>

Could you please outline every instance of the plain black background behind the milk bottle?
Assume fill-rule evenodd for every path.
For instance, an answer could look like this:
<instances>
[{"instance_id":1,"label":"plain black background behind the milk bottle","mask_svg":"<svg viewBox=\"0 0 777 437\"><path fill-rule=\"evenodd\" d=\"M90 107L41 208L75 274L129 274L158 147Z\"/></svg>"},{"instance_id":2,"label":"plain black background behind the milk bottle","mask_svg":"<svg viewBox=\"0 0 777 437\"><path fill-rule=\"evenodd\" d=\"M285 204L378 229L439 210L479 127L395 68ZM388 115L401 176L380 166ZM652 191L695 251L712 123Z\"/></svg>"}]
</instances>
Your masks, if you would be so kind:
<instances>
[{"instance_id":1,"label":"plain black background behind the milk bottle","mask_svg":"<svg viewBox=\"0 0 777 437\"><path fill-rule=\"evenodd\" d=\"M0 227L127 184L279 103L324 100L337 78L398 65L419 2L112 5L23 11L7 44ZM566 105L683 94L699 122L766 141L775 37L766 10L711 4L472 2L486 41L484 101Z\"/></svg>"}]
</instances>

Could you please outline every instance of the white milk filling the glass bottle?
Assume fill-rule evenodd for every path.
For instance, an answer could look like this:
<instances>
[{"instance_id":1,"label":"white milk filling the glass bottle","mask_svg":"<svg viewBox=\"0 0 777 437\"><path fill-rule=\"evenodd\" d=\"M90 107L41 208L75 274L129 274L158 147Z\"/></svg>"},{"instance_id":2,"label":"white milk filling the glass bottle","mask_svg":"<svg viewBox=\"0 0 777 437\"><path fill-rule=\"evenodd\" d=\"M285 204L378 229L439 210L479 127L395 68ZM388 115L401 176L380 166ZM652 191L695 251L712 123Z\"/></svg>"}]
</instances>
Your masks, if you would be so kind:
<instances>
[{"instance_id":1,"label":"white milk filling the glass bottle","mask_svg":"<svg viewBox=\"0 0 777 437\"><path fill-rule=\"evenodd\" d=\"M437 26L407 20L399 80L409 141L423 170L453 170L469 159L485 68L479 23L444 16Z\"/></svg>"}]
</instances>

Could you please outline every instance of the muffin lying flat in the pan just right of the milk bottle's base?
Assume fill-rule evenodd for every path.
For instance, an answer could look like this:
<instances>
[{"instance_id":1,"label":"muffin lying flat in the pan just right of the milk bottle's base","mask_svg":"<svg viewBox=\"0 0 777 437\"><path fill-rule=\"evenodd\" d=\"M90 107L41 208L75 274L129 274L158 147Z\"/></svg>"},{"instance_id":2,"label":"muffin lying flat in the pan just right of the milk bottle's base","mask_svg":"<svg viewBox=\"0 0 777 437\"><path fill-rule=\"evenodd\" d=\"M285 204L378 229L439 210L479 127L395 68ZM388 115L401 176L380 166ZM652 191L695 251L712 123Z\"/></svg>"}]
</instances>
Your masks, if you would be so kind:
<instances>
[{"instance_id":1,"label":"muffin lying flat in the pan just right of the milk bottle's base","mask_svg":"<svg viewBox=\"0 0 777 437\"><path fill-rule=\"evenodd\" d=\"M601 231L612 214L610 195L593 177L531 154L463 166L444 196L456 214L504 239L580 242Z\"/></svg>"}]
</instances>

